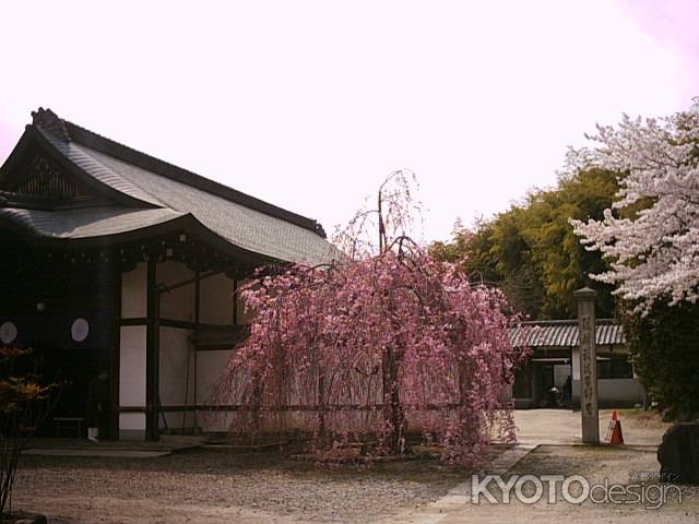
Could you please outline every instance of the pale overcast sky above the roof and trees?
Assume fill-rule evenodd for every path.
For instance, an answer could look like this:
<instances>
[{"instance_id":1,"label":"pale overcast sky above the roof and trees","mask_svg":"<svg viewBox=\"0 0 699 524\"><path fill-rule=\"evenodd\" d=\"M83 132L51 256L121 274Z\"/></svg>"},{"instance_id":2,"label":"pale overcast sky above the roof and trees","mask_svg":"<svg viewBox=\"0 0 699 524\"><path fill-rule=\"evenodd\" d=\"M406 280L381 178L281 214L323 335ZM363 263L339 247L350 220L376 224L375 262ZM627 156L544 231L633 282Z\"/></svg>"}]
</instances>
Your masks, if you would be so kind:
<instances>
[{"instance_id":1,"label":"pale overcast sky above the roof and trees","mask_svg":"<svg viewBox=\"0 0 699 524\"><path fill-rule=\"evenodd\" d=\"M345 223L417 174L427 239L550 186L567 145L699 95L699 0L0 7L0 160L60 117Z\"/></svg>"}]
</instances>

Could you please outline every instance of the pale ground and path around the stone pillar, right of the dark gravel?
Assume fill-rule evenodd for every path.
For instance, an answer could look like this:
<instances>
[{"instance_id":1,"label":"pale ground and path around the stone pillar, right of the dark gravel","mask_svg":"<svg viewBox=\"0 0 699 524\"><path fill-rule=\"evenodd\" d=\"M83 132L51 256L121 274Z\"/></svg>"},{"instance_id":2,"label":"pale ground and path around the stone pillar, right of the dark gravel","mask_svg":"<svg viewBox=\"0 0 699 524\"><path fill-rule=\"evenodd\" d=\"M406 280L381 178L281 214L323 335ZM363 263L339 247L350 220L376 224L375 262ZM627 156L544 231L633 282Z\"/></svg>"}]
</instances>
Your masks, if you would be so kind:
<instances>
[{"instance_id":1,"label":"pale ground and path around the stone pillar, right of the dark gravel","mask_svg":"<svg viewBox=\"0 0 699 524\"><path fill-rule=\"evenodd\" d=\"M582 475L590 485L639 484L648 479L647 485L656 485L659 464L656 445L670 425L663 424L652 412L623 409L618 413L623 420L624 436L630 445L570 445L580 441L580 413L555 409L516 412L520 438L524 442L540 445L518 462L503 477L509 475ZM611 412L600 414L602 437ZM530 485L531 487L531 485ZM656 488L651 488L656 489ZM647 504L593 503L590 500L581 504L571 504L562 500L560 483L557 486L555 503L546 498L534 504L524 504L511 499L501 503L501 495L495 485L490 491L500 502L491 504L483 499L473 504L470 498L471 486L464 483L453 489L448 497L437 503L425 504L417 509L407 509L383 521L384 524L518 524L533 522L541 524L582 524L605 522L614 524L674 524L699 522L699 486L682 486L682 503L678 503L675 490L667 491L667 503L657 509ZM525 495L531 495L524 487ZM649 492L654 498L656 491ZM601 496L597 490L595 497ZM618 499L617 499L618 500ZM650 507L654 505L649 502Z\"/></svg>"}]
</instances>

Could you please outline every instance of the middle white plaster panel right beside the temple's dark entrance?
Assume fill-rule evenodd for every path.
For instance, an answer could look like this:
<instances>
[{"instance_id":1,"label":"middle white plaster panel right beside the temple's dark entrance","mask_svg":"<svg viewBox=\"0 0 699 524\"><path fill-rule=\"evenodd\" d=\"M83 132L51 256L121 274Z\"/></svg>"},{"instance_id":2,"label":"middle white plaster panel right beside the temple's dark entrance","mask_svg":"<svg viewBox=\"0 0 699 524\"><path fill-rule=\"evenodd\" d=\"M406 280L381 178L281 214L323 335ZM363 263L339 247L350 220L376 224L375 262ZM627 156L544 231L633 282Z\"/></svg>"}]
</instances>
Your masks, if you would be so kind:
<instances>
[{"instance_id":1,"label":"middle white plaster panel right beside the temple's dark entrance","mask_svg":"<svg viewBox=\"0 0 699 524\"><path fill-rule=\"evenodd\" d=\"M145 406L145 325L121 326L119 405Z\"/></svg>"}]
</instances>

